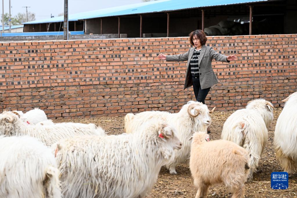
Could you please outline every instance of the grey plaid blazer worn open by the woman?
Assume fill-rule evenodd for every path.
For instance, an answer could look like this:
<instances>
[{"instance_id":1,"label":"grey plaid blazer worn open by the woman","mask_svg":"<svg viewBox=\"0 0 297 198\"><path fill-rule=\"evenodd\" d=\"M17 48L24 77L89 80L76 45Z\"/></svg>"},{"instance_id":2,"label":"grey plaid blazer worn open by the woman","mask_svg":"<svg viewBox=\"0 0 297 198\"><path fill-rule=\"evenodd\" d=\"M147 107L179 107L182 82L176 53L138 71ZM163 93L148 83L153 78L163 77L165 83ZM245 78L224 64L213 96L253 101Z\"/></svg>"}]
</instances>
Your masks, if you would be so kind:
<instances>
[{"instance_id":1,"label":"grey plaid blazer worn open by the woman","mask_svg":"<svg viewBox=\"0 0 297 198\"><path fill-rule=\"evenodd\" d=\"M187 62L187 74L184 85L184 90L193 85L192 75L190 72L190 60L193 56L196 47L191 47L186 53L178 55L168 55L166 56L166 61L188 61ZM200 57L199 57L199 72L200 72L200 85L201 89L209 88L219 82L217 76L211 67L211 61L215 59L216 61L230 62L227 61L227 56L222 55L214 51L212 47L202 45Z\"/></svg>"}]
</instances>

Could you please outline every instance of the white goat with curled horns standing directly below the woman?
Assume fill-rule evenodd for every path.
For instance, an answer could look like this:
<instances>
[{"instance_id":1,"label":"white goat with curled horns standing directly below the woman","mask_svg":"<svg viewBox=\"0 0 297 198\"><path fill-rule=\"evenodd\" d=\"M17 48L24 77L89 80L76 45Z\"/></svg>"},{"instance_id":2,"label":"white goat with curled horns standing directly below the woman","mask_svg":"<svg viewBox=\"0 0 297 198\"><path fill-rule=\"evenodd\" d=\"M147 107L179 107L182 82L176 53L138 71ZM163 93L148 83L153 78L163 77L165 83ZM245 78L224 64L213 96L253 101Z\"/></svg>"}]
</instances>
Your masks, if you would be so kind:
<instances>
[{"instance_id":1,"label":"white goat with curled horns standing directly below the woman","mask_svg":"<svg viewBox=\"0 0 297 198\"><path fill-rule=\"evenodd\" d=\"M151 119L161 119L174 126L177 129L176 137L181 140L183 146L175 152L174 161L168 162L166 167L170 174L176 174L176 165L187 160L190 156L189 137L196 131L206 132L207 126L211 122L209 113L212 113L214 109L215 107L209 111L205 104L189 101L178 113L163 111L145 111L135 115L128 113L125 116L125 132L141 132L139 129L143 123L150 122Z\"/></svg>"}]
</instances>

